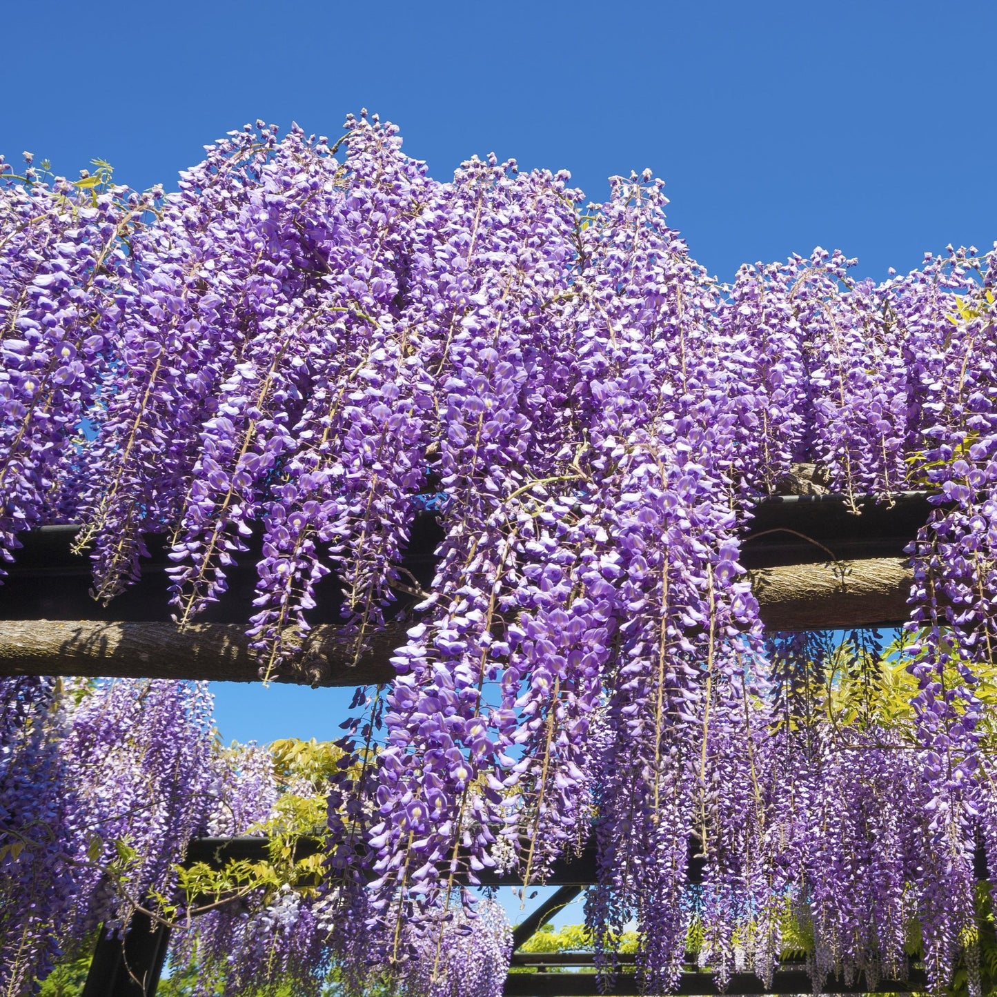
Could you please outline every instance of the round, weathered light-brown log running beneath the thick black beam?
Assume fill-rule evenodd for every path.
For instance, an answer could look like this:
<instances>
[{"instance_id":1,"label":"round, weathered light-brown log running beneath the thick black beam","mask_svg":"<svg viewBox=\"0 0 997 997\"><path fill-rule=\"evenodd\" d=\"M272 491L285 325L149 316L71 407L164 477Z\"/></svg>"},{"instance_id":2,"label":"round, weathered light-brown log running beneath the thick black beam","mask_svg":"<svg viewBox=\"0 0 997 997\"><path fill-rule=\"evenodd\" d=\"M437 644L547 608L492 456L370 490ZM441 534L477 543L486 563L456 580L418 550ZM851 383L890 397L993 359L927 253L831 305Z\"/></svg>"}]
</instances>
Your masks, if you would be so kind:
<instances>
[{"instance_id":1,"label":"round, weathered light-brown log running beneath the thick black beam","mask_svg":"<svg viewBox=\"0 0 997 997\"><path fill-rule=\"evenodd\" d=\"M848 629L902 623L911 572L898 557L794 564L750 572L771 630ZM390 659L405 642L405 622L390 623L354 662L351 642L335 624L308 634L292 681L367 685L394 675ZM87 675L251 682L257 666L244 628L197 623L0 620L0 675Z\"/></svg>"}]
</instances>

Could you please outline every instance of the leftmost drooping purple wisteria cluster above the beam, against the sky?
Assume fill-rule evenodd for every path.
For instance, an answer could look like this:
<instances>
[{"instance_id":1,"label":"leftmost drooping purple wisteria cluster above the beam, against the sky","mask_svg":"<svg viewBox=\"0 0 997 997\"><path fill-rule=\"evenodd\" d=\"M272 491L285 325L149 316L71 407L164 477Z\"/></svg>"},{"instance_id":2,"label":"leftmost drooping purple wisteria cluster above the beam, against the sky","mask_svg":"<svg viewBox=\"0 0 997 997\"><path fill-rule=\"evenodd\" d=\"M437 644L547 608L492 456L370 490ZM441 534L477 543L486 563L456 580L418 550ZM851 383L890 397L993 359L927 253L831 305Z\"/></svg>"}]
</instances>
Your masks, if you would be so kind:
<instances>
[{"instance_id":1,"label":"leftmost drooping purple wisteria cluster above the beam, against the sky","mask_svg":"<svg viewBox=\"0 0 997 997\"><path fill-rule=\"evenodd\" d=\"M0 557L16 533L71 514L82 427L116 349L130 235L155 192L106 172L69 183L31 165L0 188ZM9 166L0 158L0 176ZM100 186L94 181L101 180ZM108 339L110 334L112 339ZM68 504L64 504L68 500Z\"/></svg>"}]
</instances>

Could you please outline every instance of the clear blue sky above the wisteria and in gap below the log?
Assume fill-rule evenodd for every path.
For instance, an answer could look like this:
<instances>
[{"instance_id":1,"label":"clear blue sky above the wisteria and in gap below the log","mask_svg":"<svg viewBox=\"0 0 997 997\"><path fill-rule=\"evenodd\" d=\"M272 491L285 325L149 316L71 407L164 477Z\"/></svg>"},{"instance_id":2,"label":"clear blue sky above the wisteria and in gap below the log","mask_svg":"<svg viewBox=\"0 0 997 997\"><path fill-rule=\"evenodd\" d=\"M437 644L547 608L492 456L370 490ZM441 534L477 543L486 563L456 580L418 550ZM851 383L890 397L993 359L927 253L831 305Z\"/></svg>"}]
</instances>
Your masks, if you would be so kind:
<instances>
[{"instance_id":1,"label":"clear blue sky above the wisteria and in gap below the log","mask_svg":"<svg viewBox=\"0 0 997 997\"><path fill-rule=\"evenodd\" d=\"M4 4L0 152L172 187L263 118L361 107L448 177L495 151L592 199L650 166L722 279L815 245L876 278L997 238L997 4L920 0ZM219 686L226 738L330 737L336 690Z\"/></svg>"}]
</instances>

